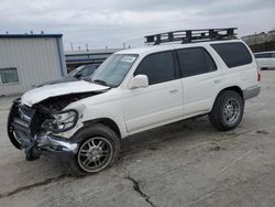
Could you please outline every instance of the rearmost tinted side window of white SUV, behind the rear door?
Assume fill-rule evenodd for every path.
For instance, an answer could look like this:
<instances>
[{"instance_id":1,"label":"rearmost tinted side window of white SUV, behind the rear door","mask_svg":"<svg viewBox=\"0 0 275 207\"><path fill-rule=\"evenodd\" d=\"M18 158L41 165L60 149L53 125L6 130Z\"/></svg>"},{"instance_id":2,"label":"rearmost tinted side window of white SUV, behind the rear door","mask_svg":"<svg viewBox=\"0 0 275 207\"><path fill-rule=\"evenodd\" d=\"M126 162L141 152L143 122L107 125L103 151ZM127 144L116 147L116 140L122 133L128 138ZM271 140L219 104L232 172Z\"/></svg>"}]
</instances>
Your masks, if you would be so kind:
<instances>
[{"instance_id":1,"label":"rearmost tinted side window of white SUV, behind the rear door","mask_svg":"<svg viewBox=\"0 0 275 207\"><path fill-rule=\"evenodd\" d=\"M241 42L211 44L229 68L252 63L252 56Z\"/></svg>"}]
</instances>

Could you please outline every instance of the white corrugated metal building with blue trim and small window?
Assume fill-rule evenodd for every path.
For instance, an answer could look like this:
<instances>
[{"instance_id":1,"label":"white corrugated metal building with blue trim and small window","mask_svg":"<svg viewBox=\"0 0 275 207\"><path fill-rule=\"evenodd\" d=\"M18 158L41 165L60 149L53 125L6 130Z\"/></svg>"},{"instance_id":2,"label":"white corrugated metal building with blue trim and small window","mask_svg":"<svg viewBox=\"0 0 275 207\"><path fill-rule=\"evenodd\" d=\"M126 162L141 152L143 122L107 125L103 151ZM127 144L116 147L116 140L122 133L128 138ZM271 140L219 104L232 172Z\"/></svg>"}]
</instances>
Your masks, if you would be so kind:
<instances>
[{"instance_id":1,"label":"white corrugated metal building with blue trim and small window","mask_svg":"<svg viewBox=\"0 0 275 207\"><path fill-rule=\"evenodd\" d=\"M0 34L0 96L67 75L62 34Z\"/></svg>"}]
</instances>

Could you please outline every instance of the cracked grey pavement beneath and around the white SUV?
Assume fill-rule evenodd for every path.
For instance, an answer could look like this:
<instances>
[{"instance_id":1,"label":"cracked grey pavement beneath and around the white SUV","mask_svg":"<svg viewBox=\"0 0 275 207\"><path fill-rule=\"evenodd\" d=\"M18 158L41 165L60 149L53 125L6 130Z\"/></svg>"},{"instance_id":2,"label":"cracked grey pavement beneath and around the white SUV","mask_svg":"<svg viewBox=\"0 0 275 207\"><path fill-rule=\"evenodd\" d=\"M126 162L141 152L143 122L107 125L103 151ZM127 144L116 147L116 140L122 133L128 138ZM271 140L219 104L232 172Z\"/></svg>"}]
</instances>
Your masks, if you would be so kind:
<instances>
[{"instance_id":1,"label":"cracked grey pavement beneath and around the white SUV","mask_svg":"<svg viewBox=\"0 0 275 207\"><path fill-rule=\"evenodd\" d=\"M275 206L275 70L262 78L235 130L207 117L153 129L124 139L114 166L80 178L57 160L25 161L6 131L13 97L0 98L0 206Z\"/></svg>"}]
</instances>

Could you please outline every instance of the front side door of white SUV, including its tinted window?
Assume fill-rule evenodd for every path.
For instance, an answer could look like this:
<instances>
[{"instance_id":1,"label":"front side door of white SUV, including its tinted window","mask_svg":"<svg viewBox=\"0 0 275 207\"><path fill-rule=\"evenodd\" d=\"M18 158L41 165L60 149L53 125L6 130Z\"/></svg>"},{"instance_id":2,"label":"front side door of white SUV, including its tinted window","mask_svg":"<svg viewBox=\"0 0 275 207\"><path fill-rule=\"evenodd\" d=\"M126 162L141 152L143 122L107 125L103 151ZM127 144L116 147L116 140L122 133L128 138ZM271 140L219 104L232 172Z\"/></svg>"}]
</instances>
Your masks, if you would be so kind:
<instances>
[{"instance_id":1,"label":"front side door of white SUV, including its tinted window","mask_svg":"<svg viewBox=\"0 0 275 207\"><path fill-rule=\"evenodd\" d=\"M146 75L148 87L127 89L124 115L129 133L161 126L183 117L183 88L173 52L145 56L133 76Z\"/></svg>"}]
</instances>

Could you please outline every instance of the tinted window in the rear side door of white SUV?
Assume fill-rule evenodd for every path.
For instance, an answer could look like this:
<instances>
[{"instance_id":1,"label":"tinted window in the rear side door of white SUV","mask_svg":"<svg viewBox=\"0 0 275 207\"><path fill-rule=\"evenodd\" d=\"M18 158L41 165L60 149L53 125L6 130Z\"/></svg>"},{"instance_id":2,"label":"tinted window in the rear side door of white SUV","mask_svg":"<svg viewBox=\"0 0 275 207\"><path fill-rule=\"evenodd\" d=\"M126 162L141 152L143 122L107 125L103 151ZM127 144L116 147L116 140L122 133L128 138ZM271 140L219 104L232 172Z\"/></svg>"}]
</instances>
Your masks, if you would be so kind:
<instances>
[{"instance_id":1,"label":"tinted window in the rear side door of white SUV","mask_svg":"<svg viewBox=\"0 0 275 207\"><path fill-rule=\"evenodd\" d=\"M217 69L212 57L204 48L185 48L177 51L184 77L213 72Z\"/></svg>"}]
</instances>

